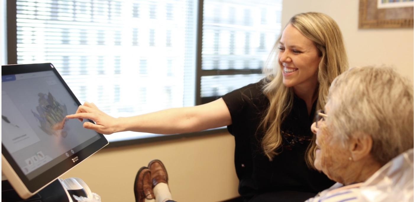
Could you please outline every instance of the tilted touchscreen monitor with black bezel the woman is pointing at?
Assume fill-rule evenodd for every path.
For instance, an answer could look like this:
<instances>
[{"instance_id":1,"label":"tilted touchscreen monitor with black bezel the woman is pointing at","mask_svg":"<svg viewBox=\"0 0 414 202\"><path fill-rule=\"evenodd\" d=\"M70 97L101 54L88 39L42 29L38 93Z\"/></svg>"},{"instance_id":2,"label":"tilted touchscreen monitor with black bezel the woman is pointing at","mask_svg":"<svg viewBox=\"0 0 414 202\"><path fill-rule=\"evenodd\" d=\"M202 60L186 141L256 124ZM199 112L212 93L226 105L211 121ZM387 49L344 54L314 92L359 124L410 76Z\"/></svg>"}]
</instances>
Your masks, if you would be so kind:
<instances>
[{"instance_id":1,"label":"tilted touchscreen monitor with black bezel the woman is pointing at","mask_svg":"<svg viewBox=\"0 0 414 202\"><path fill-rule=\"evenodd\" d=\"M26 199L108 144L51 63L2 66L2 173ZM91 120L84 120L84 122Z\"/></svg>"}]
</instances>

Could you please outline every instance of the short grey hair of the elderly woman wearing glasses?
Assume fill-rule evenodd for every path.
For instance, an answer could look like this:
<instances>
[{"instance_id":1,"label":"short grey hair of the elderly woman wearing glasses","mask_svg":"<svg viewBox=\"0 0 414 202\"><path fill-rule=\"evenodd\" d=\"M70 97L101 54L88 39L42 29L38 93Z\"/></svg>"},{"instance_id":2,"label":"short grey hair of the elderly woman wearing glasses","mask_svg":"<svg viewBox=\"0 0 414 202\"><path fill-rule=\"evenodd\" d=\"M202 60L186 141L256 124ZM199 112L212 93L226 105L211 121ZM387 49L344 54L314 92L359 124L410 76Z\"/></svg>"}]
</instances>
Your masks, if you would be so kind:
<instances>
[{"instance_id":1,"label":"short grey hair of the elderly woman wearing glasses","mask_svg":"<svg viewBox=\"0 0 414 202\"><path fill-rule=\"evenodd\" d=\"M352 136L372 137L371 155L384 165L413 148L413 84L387 67L356 67L329 89L327 124L346 145Z\"/></svg>"}]
</instances>

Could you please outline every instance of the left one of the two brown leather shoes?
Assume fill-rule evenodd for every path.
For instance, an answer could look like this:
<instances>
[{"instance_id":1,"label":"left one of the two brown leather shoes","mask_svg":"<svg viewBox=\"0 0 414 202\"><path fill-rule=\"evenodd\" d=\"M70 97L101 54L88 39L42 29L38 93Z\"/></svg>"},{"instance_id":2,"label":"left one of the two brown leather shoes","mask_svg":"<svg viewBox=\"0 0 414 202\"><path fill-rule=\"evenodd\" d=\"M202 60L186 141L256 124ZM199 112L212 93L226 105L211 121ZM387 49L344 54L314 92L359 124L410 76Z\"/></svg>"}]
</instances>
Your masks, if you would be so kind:
<instances>
[{"instance_id":1,"label":"left one of the two brown leather shoes","mask_svg":"<svg viewBox=\"0 0 414 202\"><path fill-rule=\"evenodd\" d=\"M152 191L151 170L142 167L135 176L134 183L135 202L144 202L145 199L155 199Z\"/></svg>"}]
</instances>

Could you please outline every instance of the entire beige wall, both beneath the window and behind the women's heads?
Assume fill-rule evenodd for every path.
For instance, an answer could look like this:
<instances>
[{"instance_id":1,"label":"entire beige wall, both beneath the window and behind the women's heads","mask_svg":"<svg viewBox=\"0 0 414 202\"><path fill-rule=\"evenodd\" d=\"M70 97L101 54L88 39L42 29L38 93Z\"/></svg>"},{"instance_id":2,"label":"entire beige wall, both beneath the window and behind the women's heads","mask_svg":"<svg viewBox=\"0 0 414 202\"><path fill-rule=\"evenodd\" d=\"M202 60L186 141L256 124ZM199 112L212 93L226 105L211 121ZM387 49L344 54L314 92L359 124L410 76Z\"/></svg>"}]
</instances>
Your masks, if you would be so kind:
<instances>
[{"instance_id":1,"label":"entire beige wall, both beneath the window and behind the women's heads","mask_svg":"<svg viewBox=\"0 0 414 202\"><path fill-rule=\"evenodd\" d=\"M413 29L358 29L357 0L284 0L282 22L299 12L324 12L344 35L350 66L387 64L413 80ZM237 196L234 139L229 134L140 144L99 151L66 173L82 178L102 201L133 201L137 170L161 159L173 198L214 202Z\"/></svg>"}]
</instances>

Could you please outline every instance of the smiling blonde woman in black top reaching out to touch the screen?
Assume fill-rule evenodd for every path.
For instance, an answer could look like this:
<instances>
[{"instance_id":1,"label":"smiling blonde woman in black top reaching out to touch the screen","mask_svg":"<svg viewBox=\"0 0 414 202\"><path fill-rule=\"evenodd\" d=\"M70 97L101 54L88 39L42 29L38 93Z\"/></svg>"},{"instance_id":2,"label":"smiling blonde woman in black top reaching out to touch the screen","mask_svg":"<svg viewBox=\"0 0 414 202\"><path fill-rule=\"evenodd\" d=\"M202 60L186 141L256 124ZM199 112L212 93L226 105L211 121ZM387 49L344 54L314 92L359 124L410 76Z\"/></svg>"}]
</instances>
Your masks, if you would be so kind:
<instances>
[{"instance_id":1,"label":"smiling blonde woman in black top reaching out to touch the screen","mask_svg":"<svg viewBox=\"0 0 414 202\"><path fill-rule=\"evenodd\" d=\"M333 184L314 170L310 125L333 79L348 67L342 34L329 16L292 17L266 63L266 78L194 107L135 117L110 117L85 102L67 118L103 134L177 134L227 126L236 141L235 167L245 201L303 201ZM293 198L292 198L293 196Z\"/></svg>"}]
</instances>

